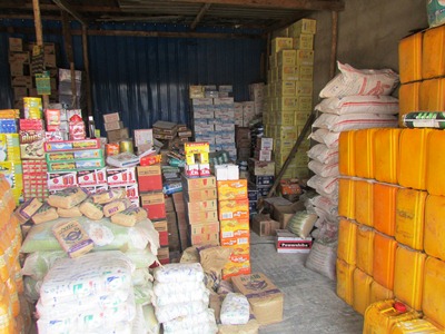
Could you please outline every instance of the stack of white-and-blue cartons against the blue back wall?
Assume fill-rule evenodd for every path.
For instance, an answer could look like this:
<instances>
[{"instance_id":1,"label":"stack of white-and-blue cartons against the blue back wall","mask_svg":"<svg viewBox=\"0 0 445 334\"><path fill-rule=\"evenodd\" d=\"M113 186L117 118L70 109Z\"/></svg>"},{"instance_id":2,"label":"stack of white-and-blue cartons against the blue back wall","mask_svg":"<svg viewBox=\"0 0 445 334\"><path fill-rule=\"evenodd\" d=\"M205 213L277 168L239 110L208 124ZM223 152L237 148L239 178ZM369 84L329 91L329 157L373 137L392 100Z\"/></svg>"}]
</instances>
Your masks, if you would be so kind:
<instances>
[{"instance_id":1,"label":"stack of white-and-blue cartons against the blue back wall","mask_svg":"<svg viewBox=\"0 0 445 334\"><path fill-rule=\"evenodd\" d=\"M192 98L196 141L210 144L210 151L225 150L236 160L234 98Z\"/></svg>"}]
</instances>

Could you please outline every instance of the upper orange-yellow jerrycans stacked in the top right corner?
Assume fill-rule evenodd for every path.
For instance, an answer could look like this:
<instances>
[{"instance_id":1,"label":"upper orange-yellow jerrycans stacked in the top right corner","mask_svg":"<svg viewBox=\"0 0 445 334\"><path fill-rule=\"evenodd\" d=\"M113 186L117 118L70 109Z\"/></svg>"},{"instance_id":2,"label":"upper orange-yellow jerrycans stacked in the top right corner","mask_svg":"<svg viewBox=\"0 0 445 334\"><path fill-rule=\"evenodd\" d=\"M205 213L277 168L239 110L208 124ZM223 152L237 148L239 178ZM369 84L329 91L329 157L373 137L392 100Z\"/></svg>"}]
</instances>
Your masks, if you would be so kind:
<instances>
[{"instance_id":1,"label":"upper orange-yellow jerrycans stacked in the top right corner","mask_svg":"<svg viewBox=\"0 0 445 334\"><path fill-rule=\"evenodd\" d=\"M400 40L399 124L411 111L445 111L445 26Z\"/></svg>"}]
</instances>

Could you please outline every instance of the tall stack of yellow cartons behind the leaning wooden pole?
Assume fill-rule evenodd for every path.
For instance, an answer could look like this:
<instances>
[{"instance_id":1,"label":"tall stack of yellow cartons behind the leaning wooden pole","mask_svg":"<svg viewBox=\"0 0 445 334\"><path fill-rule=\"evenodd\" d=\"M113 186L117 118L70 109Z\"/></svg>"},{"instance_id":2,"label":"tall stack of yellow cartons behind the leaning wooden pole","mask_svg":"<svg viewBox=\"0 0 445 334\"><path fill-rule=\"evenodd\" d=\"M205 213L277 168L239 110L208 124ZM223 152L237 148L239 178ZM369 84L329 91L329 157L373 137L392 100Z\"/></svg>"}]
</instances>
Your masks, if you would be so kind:
<instances>
[{"instance_id":1,"label":"tall stack of yellow cartons behind the leaning wooden pole","mask_svg":"<svg viewBox=\"0 0 445 334\"><path fill-rule=\"evenodd\" d=\"M314 37L316 21L301 19L271 40L264 124L275 139L276 174L313 110ZM305 140L284 177L307 176L309 140Z\"/></svg>"}]
</instances>

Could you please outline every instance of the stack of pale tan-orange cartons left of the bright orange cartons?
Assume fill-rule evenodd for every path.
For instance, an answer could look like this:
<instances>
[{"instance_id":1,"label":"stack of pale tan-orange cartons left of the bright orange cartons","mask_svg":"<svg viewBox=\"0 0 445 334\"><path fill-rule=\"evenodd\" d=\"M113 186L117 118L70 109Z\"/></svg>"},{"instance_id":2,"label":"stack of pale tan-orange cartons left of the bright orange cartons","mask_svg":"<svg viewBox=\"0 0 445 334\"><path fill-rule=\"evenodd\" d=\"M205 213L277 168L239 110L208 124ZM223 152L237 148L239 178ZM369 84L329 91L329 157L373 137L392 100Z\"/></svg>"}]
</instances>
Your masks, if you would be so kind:
<instances>
[{"instance_id":1,"label":"stack of pale tan-orange cartons left of the bright orange cartons","mask_svg":"<svg viewBox=\"0 0 445 334\"><path fill-rule=\"evenodd\" d=\"M181 177L190 245L218 244L219 220L215 176Z\"/></svg>"}]
</instances>

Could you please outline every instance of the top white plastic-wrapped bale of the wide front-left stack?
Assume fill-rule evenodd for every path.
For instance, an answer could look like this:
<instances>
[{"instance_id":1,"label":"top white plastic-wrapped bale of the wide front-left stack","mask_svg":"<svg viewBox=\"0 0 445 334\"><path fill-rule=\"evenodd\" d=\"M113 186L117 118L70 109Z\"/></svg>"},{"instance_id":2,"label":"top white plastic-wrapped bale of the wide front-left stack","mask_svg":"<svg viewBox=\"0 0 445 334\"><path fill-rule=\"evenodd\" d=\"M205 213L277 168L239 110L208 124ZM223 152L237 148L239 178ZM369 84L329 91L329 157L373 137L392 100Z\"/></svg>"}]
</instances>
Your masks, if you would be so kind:
<instances>
[{"instance_id":1,"label":"top white plastic-wrapped bale of the wide front-left stack","mask_svg":"<svg viewBox=\"0 0 445 334\"><path fill-rule=\"evenodd\" d=\"M132 288L131 261L119 250L89 253L58 261L40 288L42 305ZM76 286L76 288L72 288Z\"/></svg>"}]
</instances>

